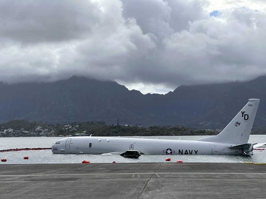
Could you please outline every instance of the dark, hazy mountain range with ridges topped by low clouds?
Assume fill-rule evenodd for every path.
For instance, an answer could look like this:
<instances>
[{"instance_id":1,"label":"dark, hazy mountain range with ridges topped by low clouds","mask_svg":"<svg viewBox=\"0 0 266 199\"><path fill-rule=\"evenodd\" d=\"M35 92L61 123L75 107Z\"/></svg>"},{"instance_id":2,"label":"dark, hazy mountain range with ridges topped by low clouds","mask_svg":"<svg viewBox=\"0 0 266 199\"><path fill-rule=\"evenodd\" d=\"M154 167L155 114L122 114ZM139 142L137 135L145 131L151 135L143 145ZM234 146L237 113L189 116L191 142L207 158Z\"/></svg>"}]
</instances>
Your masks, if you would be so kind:
<instances>
[{"instance_id":1,"label":"dark, hazy mountain range with ridges topped by low clouds","mask_svg":"<svg viewBox=\"0 0 266 199\"><path fill-rule=\"evenodd\" d=\"M165 95L146 94L114 81L73 76L47 83L0 83L0 123L14 118L44 123L184 125L223 128L249 98L260 98L255 126L266 126L266 77L249 82L182 85Z\"/></svg>"}]
</instances>

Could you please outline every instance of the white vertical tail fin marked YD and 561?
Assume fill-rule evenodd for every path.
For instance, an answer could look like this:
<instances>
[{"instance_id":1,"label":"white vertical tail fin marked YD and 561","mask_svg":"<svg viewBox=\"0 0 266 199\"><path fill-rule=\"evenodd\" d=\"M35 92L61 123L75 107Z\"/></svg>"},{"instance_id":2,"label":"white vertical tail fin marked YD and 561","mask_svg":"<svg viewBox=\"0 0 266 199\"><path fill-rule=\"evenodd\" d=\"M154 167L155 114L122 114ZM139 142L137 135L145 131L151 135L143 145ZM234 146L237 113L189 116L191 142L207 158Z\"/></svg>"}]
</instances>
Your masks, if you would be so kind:
<instances>
[{"instance_id":1,"label":"white vertical tail fin marked YD and 561","mask_svg":"<svg viewBox=\"0 0 266 199\"><path fill-rule=\"evenodd\" d=\"M200 141L246 144L250 136L260 99L249 99L248 101L221 133Z\"/></svg>"}]
</instances>

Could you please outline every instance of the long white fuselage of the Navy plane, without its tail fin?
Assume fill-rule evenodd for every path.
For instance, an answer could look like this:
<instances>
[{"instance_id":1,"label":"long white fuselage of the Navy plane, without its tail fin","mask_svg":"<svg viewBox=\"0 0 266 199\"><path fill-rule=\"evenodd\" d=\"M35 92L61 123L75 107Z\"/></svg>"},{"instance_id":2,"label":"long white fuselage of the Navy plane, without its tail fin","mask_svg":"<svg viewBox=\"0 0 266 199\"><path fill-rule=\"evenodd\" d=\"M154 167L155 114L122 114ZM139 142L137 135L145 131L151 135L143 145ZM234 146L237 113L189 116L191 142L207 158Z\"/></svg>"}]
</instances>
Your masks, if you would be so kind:
<instances>
[{"instance_id":1,"label":"long white fuselage of the Navy plane, without its tail fin","mask_svg":"<svg viewBox=\"0 0 266 199\"><path fill-rule=\"evenodd\" d=\"M56 144L60 142L59 144ZM58 140L52 145L53 153L63 154L103 154L138 150L144 154L241 154L241 150L229 149L235 144L189 141L161 140L116 137L71 137Z\"/></svg>"}]
</instances>

